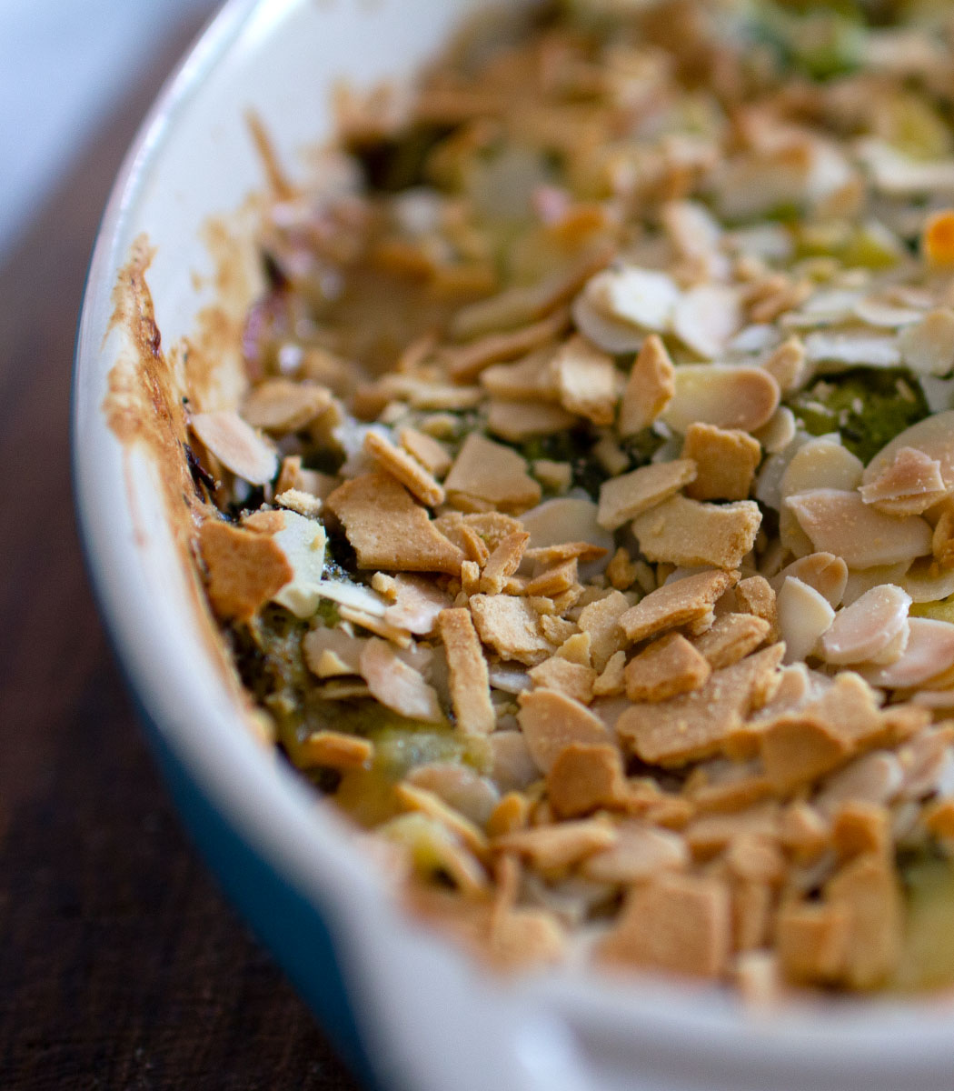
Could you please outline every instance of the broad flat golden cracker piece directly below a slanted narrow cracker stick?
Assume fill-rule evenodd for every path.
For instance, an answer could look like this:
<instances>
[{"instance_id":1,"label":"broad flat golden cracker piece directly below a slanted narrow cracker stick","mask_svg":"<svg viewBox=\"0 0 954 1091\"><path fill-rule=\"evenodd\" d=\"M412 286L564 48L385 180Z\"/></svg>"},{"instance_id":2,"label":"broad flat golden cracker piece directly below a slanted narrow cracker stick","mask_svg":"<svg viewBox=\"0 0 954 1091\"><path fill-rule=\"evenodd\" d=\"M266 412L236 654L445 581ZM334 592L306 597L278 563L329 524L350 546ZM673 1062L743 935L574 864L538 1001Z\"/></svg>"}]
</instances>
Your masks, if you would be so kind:
<instances>
[{"instance_id":1,"label":"broad flat golden cracker piece directly below a slanted narrow cracker stick","mask_svg":"<svg viewBox=\"0 0 954 1091\"><path fill-rule=\"evenodd\" d=\"M460 573L463 553L389 475L364 473L346 481L325 505L343 524L360 567Z\"/></svg>"}]
</instances>

